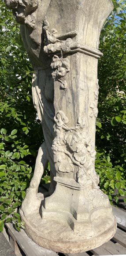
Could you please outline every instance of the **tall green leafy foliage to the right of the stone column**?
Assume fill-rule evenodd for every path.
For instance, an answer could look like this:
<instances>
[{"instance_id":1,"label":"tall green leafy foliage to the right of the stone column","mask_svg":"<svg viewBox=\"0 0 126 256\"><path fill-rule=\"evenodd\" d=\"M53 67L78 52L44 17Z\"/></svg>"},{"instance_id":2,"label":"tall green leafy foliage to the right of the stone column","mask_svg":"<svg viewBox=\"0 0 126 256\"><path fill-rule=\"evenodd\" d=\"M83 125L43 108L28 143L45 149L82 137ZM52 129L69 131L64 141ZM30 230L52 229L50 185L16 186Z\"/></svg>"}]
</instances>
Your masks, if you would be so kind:
<instances>
[{"instance_id":1,"label":"tall green leafy foliage to the right of the stone column","mask_svg":"<svg viewBox=\"0 0 126 256\"><path fill-rule=\"evenodd\" d=\"M96 171L100 188L126 196L126 1L113 1L114 11L104 24L99 61L99 114L96 122ZM124 198L124 201L126 199Z\"/></svg>"}]
</instances>

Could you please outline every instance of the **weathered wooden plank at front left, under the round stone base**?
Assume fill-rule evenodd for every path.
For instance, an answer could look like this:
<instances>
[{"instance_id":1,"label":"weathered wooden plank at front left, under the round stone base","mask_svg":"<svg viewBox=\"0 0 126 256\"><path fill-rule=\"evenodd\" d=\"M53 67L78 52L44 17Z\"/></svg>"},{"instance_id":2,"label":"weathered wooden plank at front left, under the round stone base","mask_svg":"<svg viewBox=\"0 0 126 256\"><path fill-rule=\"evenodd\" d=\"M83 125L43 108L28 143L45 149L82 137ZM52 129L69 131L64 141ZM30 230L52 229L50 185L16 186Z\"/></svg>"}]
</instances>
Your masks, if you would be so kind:
<instances>
[{"instance_id":1,"label":"weathered wooden plank at front left, under the round stone base","mask_svg":"<svg viewBox=\"0 0 126 256\"><path fill-rule=\"evenodd\" d=\"M15 239L26 256L57 256L56 252L35 244L30 237L27 236L24 230L18 232L14 229L12 223L6 223L6 226L8 228L8 232L12 236L12 239Z\"/></svg>"}]
</instances>

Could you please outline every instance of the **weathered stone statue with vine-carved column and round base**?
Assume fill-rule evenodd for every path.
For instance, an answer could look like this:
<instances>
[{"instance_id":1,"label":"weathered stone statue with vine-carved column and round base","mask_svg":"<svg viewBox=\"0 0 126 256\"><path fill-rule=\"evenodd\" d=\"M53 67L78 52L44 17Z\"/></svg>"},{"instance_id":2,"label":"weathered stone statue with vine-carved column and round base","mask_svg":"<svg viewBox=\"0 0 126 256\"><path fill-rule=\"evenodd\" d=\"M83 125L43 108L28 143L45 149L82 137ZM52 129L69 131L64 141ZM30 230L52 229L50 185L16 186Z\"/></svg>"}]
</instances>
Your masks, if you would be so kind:
<instances>
[{"instance_id":1,"label":"weathered stone statue with vine-carved column and round base","mask_svg":"<svg viewBox=\"0 0 126 256\"><path fill-rule=\"evenodd\" d=\"M95 172L100 30L111 0L5 0L34 68L33 103L44 143L20 215L26 233L56 252L96 248L116 232ZM49 196L38 193L48 161Z\"/></svg>"}]
</instances>

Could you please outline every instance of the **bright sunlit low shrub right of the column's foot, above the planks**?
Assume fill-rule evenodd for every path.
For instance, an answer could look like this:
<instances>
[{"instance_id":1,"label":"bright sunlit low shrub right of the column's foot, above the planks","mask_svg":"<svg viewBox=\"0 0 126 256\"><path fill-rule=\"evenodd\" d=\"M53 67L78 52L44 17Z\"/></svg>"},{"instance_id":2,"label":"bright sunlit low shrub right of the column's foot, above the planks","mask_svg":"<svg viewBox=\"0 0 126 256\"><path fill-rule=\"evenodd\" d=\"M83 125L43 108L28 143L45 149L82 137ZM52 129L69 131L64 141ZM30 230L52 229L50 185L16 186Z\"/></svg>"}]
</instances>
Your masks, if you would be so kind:
<instances>
[{"instance_id":1,"label":"bright sunlit low shrub right of the column's foot, above the planks","mask_svg":"<svg viewBox=\"0 0 126 256\"><path fill-rule=\"evenodd\" d=\"M119 196L126 197L125 165L113 167L110 156L106 156L106 151L97 150L95 167L100 176L100 189L108 195L110 201L114 199L118 203Z\"/></svg>"}]
</instances>

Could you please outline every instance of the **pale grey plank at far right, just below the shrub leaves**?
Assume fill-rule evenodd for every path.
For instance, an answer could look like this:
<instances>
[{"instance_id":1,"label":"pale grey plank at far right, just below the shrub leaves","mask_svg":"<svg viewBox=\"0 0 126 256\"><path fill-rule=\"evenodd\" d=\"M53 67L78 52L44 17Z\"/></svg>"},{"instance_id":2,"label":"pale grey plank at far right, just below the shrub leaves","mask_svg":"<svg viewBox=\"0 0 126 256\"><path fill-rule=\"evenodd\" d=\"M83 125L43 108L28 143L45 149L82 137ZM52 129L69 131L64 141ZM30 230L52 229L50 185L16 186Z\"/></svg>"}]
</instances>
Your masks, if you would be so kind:
<instances>
[{"instance_id":1,"label":"pale grey plank at far right, just below the shrub leaves","mask_svg":"<svg viewBox=\"0 0 126 256\"><path fill-rule=\"evenodd\" d=\"M118 226L126 230L126 212L114 206L112 207L112 210L117 219Z\"/></svg>"}]
</instances>

